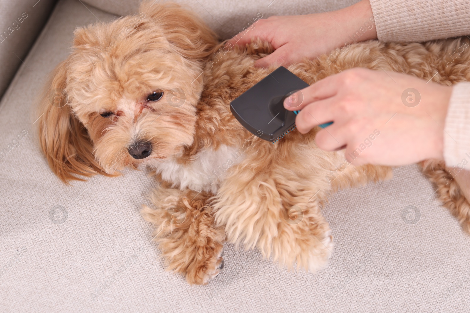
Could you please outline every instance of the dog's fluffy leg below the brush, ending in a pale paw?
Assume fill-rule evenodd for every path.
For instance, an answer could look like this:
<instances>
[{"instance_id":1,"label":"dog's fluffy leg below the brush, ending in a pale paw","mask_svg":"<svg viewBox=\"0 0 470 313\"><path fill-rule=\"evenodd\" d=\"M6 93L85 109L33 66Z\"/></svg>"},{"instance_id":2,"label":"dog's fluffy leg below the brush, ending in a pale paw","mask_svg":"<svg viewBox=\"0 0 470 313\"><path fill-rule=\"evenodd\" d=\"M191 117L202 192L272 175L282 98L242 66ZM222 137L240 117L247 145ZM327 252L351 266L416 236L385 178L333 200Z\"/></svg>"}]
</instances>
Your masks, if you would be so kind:
<instances>
[{"instance_id":1,"label":"dog's fluffy leg below the brush, ending in a pale paw","mask_svg":"<svg viewBox=\"0 0 470 313\"><path fill-rule=\"evenodd\" d=\"M274 168L276 165L271 165ZM237 168L222 183L214 201L216 222L226 225L228 241L257 247L280 265L312 272L326 265L333 241L315 196L314 180L273 175L248 166ZM325 183L326 185L326 183ZM318 189L317 189L318 190ZM320 192L319 192L320 193Z\"/></svg>"}]
</instances>

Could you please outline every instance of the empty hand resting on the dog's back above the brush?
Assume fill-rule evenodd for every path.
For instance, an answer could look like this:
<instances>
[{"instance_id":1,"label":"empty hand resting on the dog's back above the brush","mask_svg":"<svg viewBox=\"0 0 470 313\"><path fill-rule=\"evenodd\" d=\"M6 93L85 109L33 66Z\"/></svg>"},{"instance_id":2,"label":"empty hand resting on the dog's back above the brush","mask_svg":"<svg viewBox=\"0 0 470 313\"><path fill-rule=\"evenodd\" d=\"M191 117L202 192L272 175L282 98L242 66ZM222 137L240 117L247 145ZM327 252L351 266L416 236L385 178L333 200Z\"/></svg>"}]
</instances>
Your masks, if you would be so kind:
<instances>
[{"instance_id":1,"label":"empty hand resting on the dog's back above the brush","mask_svg":"<svg viewBox=\"0 0 470 313\"><path fill-rule=\"evenodd\" d=\"M369 0L332 12L270 16L252 26L230 39L227 45L244 46L256 38L271 43L275 51L256 61L257 67L287 66L305 58L317 58L352 42L377 38ZM361 28L364 33L360 32Z\"/></svg>"}]
</instances>

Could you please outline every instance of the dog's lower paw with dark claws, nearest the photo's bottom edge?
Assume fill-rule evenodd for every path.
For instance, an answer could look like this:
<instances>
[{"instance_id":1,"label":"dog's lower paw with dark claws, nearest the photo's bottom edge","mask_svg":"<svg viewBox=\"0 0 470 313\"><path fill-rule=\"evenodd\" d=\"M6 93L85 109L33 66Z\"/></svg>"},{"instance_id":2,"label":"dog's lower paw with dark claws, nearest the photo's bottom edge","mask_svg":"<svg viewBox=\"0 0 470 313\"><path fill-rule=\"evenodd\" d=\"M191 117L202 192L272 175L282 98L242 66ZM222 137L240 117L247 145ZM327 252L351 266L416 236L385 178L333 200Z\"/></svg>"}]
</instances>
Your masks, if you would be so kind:
<instances>
[{"instance_id":1,"label":"dog's lower paw with dark claws, nearest the photo's bottom edge","mask_svg":"<svg viewBox=\"0 0 470 313\"><path fill-rule=\"evenodd\" d=\"M224 268L223 251L206 260L201 260L188 270L186 280L191 285L205 285L211 279L217 277Z\"/></svg>"}]
</instances>

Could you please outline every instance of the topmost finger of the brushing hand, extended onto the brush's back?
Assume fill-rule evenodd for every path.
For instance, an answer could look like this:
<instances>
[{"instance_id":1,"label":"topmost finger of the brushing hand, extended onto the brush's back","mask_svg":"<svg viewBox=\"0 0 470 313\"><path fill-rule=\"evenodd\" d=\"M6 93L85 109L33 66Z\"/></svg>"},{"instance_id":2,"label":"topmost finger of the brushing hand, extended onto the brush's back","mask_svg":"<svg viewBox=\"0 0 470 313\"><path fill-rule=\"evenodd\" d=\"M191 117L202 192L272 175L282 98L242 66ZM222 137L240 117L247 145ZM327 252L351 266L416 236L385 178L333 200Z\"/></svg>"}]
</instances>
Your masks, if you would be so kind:
<instances>
[{"instance_id":1,"label":"topmost finger of the brushing hand, extended onto the brush's back","mask_svg":"<svg viewBox=\"0 0 470 313\"><path fill-rule=\"evenodd\" d=\"M286 98L284 107L290 111L298 111L316 101L334 97L338 92L339 85L337 75L328 76Z\"/></svg>"}]
</instances>

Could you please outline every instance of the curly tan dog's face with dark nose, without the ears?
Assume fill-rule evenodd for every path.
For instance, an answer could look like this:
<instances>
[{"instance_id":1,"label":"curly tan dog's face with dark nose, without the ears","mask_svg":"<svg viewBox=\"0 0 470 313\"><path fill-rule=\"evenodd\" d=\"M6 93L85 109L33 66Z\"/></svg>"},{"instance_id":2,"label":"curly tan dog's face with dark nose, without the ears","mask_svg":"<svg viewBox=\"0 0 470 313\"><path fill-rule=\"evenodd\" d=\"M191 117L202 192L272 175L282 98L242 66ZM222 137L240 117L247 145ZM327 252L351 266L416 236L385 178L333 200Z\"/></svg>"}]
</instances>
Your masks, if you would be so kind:
<instances>
[{"instance_id":1,"label":"curly tan dog's face with dark nose, without the ears","mask_svg":"<svg viewBox=\"0 0 470 313\"><path fill-rule=\"evenodd\" d=\"M69 105L107 171L172 157L194 135L201 66L153 23L137 19L80 30L68 64ZM117 38L133 23L140 23L133 33Z\"/></svg>"}]
</instances>

